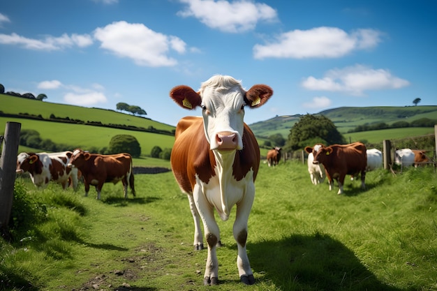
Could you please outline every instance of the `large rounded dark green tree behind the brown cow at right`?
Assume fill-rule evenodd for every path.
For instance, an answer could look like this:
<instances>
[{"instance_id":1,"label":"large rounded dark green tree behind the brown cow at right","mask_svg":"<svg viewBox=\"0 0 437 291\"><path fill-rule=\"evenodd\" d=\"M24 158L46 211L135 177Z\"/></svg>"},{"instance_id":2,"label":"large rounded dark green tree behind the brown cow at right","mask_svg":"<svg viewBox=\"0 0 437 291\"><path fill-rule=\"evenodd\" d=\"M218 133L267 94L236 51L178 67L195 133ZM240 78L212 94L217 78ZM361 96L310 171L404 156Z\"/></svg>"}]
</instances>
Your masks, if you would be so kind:
<instances>
[{"instance_id":1,"label":"large rounded dark green tree behind the brown cow at right","mask_svg":"<svg viewBox=\"0 0 437 291\"><path fill-rule=\"evenodd\" d=\"M286 149L303 149L319 142L325 145L343 144L346 140L327 117L306 114L290 129Z\"/></svg>"}]
</instances>

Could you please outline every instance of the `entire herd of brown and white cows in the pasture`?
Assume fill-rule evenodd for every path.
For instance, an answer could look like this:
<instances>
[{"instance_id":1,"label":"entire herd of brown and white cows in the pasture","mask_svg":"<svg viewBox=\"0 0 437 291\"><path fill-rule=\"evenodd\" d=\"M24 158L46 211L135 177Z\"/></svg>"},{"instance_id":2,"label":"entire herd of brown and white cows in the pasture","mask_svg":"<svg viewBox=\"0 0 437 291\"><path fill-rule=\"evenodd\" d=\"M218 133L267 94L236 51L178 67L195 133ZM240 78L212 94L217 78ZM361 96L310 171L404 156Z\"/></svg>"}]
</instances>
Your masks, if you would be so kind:
<instances>
[{"instance_id":1,"label":"entire herd of brown and white cows in the pasture","mask_svg":"<svg viewBox=\"0 0 437 291\"><path fill-rule=\"evenodd\" d=\"M260 166L260 149L249 126L244 124L244 108L258 108L273 95L265 84L255 84L246 91L241 83L230 76L215 75L202 83L199 91L181 85L170 91L177 105L186 109L202 109L202 117L184 117L177 124L175 144L170 159L172 172L188 202L195 223L193 246L204 248L207 242L207 261L204 284L218 284L216 246L221 245L220 230L214 218L214 209L223 221L237 207L233 235L237 242L237 268L242 283L255 283L246 254L247 221L255 196L255 178ZM320 184L325 176L329 190L333 180L343 193L346 175L361 174L362 187L367 170L380 167L382 153L367 150L364 144L334 144L325 147L316 144L306 147L311 182ZM278 165L281 149L276 147L267 154L269 166ZM426 163L423 153L403 149L397 151L395 163L418 165ZM17 172L29 172L36 186L45 187L57 181L66 188L77 187L83 178L85 194L89 186L96 186L98 199L104 183L121 181L124 197L128 186L135 195L132 158L129 154L90 154L82 149L61 153L21 153L17 156ZM202 234L200 220L203 223Z\"/></svg>"}]
</instances>

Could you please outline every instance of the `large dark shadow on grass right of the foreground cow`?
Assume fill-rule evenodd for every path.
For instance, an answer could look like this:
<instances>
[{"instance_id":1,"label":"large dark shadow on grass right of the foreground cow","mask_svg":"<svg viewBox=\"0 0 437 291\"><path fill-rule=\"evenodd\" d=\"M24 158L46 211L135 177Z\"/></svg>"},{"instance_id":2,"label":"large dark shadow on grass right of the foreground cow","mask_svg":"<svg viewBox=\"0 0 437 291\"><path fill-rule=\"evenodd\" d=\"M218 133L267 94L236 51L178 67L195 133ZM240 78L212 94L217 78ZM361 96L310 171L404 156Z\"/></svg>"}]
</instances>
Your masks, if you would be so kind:
<instances>
[{"instance_id":1,"label":"large dark shadow on grass right of the foreground cow","mask_svg":"<svg viewBox=\"0 0 437 291\"><path fill-rule=\"evenodd\" d=\"M354 253L326 234L292 235L281 241L249 245L258 282L281 290L400 291L378 281Z\"/></svg>"}]
</instances>

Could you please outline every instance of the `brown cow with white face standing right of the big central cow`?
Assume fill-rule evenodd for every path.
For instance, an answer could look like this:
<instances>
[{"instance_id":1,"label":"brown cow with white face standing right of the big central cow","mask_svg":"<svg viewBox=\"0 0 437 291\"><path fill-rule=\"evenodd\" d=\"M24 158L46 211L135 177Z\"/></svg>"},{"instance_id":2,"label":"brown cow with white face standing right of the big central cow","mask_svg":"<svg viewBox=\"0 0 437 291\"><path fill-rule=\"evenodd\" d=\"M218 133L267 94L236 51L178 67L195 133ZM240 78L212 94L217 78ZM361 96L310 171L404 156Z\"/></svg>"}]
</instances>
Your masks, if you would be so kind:
<instances>
[{"instance_id":1,"label":"brown cow with white face standing right of the big central cow","mask_svg":"<svg viewBox=\"0 0 437 291\"><path fill-rule=\"evenodd\" d=\"M305 148L308 152L309 149ZM339 183L339 192L343 194L343 184L346 174L355 176L361 174L361 187L366 188L367 154L366 146L361 142L353 144L332 144L325 147L323 144L312 151L315 164L323 164L329 181L329 191L332 190L334 179Z\"/></svg>"}]
</instances>

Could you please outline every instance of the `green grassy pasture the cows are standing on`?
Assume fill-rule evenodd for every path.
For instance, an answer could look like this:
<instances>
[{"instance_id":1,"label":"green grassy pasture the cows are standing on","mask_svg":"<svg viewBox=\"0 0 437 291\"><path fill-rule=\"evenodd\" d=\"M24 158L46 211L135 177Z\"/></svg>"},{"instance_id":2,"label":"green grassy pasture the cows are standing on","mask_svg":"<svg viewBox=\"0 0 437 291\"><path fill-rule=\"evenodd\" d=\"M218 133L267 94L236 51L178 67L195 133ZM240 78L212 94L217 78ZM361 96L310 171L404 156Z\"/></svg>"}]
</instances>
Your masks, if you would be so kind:
<instances>
[{"instance_id":1,"label":"green grassy pasture the cows are standing on","mask_svg":"<svg viewBox=\"0 0 437 291\"><path fill-rule=\"evenodd\" d=\"M19 178L16 191L45 207L46 219L15 244L1 241L0 290L437 290L432 167L369 172L366 191L347 180L336 195L326 181L313 186L306 165L261 163L255 186L255 285L239 283L234 213L218 221L219 285L205 288L206 251L193 251L188 200L171 172L136 175L128 200L121 184L105 184L97 201L94 188L83 197L83 185L38 191Z\"/></svg>"}]
</instances>

